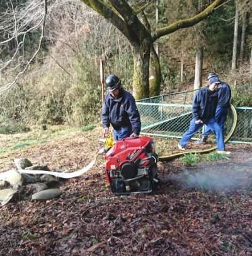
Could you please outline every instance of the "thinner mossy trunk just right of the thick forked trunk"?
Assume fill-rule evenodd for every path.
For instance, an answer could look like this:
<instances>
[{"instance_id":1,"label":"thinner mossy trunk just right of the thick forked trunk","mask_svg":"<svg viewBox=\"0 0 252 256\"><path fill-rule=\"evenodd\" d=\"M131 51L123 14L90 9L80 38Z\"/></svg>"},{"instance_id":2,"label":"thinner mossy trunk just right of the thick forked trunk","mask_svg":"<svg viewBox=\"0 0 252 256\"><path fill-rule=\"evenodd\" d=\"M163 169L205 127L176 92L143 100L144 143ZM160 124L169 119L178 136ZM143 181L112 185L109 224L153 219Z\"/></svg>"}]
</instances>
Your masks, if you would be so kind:
<instances>
[{"instance_id":1,"label":"thinner mossy trunk just right of the thick forked trunk","mask_svg":"<svg viewBox=\"0 0 252 256\"><path fill-rule=\"evenodd\" d=\"M157 96L160 93L161 68L159 58L153 45L151 46L151 59L149 66L149 96Z\"/></svg>"}]
</instances>

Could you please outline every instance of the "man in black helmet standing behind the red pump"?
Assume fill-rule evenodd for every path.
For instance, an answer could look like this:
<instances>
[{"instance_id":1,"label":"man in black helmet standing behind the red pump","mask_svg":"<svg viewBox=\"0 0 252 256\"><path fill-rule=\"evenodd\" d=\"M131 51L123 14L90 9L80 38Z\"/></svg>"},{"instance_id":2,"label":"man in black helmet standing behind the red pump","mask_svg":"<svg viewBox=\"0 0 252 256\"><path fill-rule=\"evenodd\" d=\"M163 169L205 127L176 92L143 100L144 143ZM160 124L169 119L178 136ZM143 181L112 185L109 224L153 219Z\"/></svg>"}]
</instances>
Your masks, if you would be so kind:
<instances>
[{"instance_id":1,"label":"man in black helmet standing behind the red pump","mask_svg":"<svg viewBox=\"0 0 252 256\"><path fill-rule=\"evenodd\" d=\"M110 124L114 141L139 136L141 122L134 97L123 90L121 80L115 75L108 76L105 84L108 93L101 113L103 137L108 134Z\"/></svg>"}]
</instances>

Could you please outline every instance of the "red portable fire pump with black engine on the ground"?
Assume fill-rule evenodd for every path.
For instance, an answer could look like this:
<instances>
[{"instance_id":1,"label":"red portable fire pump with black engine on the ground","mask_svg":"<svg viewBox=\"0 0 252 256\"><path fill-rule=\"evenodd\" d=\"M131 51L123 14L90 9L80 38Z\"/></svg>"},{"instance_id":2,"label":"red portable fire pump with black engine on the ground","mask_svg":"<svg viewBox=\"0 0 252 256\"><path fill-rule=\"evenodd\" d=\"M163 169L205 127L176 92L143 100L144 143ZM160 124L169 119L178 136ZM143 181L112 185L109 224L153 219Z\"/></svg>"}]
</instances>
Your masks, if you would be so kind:
<instances>
[{"instance_id":1,"label":"red portable fire pump with black engine on the ground","mask_svg":"<svg viewBox=\"0 0 252 256\"><path fill-rule=\"evenodd\" d=\"M117 141L106 152L106 180L114 194L150 193L157 185L154 141L141 136Z\"/></svg>"}]
</instances>

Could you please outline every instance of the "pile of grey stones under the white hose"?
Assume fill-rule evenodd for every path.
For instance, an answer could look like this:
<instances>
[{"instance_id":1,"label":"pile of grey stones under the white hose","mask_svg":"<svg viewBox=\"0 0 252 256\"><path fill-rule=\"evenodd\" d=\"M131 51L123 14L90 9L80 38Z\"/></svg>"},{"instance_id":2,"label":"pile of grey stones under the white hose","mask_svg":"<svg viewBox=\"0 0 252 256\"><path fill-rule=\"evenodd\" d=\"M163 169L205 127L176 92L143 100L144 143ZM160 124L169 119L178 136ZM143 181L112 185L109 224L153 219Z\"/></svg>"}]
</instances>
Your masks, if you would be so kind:
<instances>
[{"instance_id":1,"label":"pile of grey stones under the white hose","mask_svg":"<svg viewBox=\"0 0 252 256\"><path fill-rule=\"evenodd\" d=\"M0 204L2 206L8 202L21 200L46 201L61 194L60 189L53 189L59 182L58 177L18 172L20 169L50 172L47 165L33 165L26 158L16 158L14 164L16 169L0 173ZM62 170L57 169L56 172L62 172Z\"/></svg>"}]
</instances>

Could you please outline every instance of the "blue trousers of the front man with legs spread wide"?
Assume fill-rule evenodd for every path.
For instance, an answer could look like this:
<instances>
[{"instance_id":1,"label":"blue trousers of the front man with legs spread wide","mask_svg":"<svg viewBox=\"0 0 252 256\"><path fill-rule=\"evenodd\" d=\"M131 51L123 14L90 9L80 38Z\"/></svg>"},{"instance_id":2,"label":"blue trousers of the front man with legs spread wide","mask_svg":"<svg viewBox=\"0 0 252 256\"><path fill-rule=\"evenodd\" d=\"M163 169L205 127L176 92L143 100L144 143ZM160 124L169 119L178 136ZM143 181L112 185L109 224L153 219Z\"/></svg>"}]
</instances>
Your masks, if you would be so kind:
<instances>
[{"instance_id":1,"label":"blue trousers of the front man with legs spread wide","mask_svg":"<svg viewBox=\"0 0 252 256\"><path fill-rule=\"evenodd\" d=\"M224 151L225 144L224 144L224 136L220 125L215 121L214 118L207 119L203 124L195 124L196 119L192 119L190 122L190 126L188 130L183 134L180 145L185 147L185 145L190 141L192 136L204 125L206 124L212 132L214 132L217 140L217 149Z\"/></svg>"}]
</instances>

